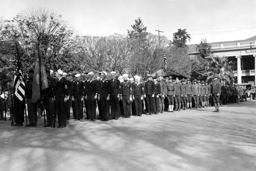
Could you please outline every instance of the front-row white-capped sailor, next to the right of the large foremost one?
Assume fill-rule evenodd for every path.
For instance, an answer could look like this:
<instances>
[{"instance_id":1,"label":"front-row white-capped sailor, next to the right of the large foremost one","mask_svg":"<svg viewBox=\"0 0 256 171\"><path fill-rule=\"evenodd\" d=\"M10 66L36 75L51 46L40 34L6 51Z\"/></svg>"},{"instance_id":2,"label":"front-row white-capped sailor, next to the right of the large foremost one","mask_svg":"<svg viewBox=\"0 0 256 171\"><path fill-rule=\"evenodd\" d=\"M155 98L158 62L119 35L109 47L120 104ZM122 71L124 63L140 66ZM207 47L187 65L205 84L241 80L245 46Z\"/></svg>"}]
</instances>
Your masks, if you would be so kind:
<instances>
[{"instance_id":1,"label":"front-row white-capped sailor, next to the right of the large foremost one","mask_svg":"<svg viewBox=\"0 0 256 171\"><path fill-rule=\"evenodd\" d=\"M84 83L80 80L81 74L75 75L76 80L73 82L71 99L75 105L76 120L83 119L83 100L84 100Z\"/></svg>"}]
</instances>

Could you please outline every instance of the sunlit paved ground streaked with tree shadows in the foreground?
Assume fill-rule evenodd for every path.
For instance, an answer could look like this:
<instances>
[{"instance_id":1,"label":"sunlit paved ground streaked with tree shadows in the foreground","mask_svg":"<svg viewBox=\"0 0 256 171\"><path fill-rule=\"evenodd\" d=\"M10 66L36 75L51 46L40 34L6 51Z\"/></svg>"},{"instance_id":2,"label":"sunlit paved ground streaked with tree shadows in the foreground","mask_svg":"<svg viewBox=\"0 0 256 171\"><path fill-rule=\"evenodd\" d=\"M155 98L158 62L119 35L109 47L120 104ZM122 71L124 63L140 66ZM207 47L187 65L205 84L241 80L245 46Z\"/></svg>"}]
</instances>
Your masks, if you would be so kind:
<instances>
[{"instance_id":1,"label":"sunlit paved ground streaked with tree shadows in the foreground","mask_svg":"<svg viewBox=\"0 0 256 171\"><path fill-rule=\"evenodd\" d=\"M256 101L64 129L0 121L0 170L256 170Z\"/></svg>"}]
</instances>

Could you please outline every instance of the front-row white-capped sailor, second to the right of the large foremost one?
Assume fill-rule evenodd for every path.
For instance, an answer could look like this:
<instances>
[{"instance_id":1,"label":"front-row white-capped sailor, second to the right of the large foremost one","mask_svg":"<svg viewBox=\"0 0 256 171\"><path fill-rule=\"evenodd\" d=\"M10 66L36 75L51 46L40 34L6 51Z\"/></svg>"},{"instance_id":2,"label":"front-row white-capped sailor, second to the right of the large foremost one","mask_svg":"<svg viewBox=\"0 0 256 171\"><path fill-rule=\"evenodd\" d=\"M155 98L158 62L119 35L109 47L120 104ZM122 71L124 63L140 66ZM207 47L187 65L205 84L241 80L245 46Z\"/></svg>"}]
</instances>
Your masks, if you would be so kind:
<instances>
[{"instance_id":1,"label":"front-row white-capped sailor, second to the right of the large foremost one","mask_svg":"<svg viewBox=\"0 0 256 171\"><path fill-rule=\"evenodd\" d=\"M93 72L89 72L87 82L86 99L88 105L88 119L96 120L96 99L98 98L99 80L94 76Z\"/></svg>"}]
</instances>

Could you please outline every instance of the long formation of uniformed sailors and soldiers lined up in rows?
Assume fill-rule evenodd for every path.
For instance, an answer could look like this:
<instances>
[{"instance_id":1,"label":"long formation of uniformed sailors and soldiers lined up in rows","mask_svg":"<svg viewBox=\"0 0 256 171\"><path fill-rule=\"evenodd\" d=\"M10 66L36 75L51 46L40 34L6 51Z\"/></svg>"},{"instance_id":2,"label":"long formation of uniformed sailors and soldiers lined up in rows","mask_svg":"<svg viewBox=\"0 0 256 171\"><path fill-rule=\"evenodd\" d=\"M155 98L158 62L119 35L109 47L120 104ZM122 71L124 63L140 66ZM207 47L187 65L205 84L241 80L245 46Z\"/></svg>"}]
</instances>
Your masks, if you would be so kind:
<instances>
[{"instance_id":1,"label":"long formation of uniformed sailors and soldiers lined up in rows","mask_svg":"<svg viewBox=\"0 0 256 171\"><path fill-rule=\"evenodd\" d=\"M216 74L210 82L196 79L190 81L172 75L147 75L143 79L139 75L119 75L114 71L102 71L96 76L93 72L67 74L62 70L50 70L47 76L49 88L41 92L45 127L55 127L56 120L57 127L66 127L71 108L72 119L109 121L120 117L130 118L131 115L141 117L142 114L157 115L209 106L215 106L212 112L220 112L220 105L246 99L243 88L220 82ZM33 71L29 71L26 80L29 124L26 126L37 125L38 104L31 102L32 82ZM12 94L11 87L8 91L9 95ZM11 100L9 103L12 107ZM10 109L11 115L12 111ZM23 122L16 122L14 126L22 126Z\"/></svg>"}]
</instances>

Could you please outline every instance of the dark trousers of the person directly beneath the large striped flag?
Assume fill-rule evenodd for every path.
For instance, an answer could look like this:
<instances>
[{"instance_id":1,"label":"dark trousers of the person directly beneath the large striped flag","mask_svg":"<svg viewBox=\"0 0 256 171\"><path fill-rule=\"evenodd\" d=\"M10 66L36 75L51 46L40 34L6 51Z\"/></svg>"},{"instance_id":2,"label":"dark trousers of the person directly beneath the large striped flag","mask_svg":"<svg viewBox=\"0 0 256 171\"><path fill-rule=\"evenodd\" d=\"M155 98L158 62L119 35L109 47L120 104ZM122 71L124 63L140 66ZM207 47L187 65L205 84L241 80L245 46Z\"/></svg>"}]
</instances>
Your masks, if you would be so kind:
<instances>
[{"instance_id":1,"label":"dark trousers of the person directly beneath the large striped flag","mask_svg":"<svg viewBox=\"0 0 256 171\"><path fill-rule=\"evenodd\" d=\"M14 122L16 123L24 122L24 109L25 109L25 100L20 101L16 96L14 96L14 101L13 101Z\"/></svg>"}]
</instances>

